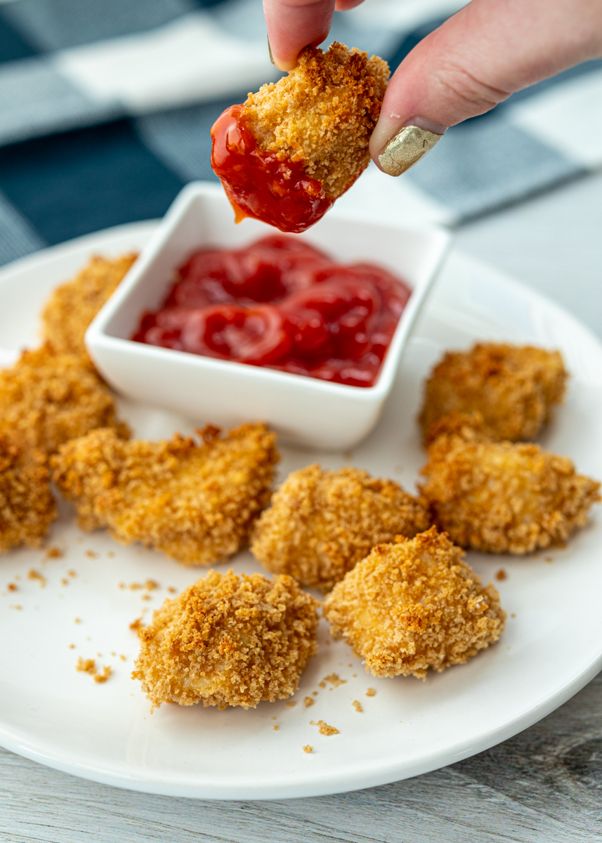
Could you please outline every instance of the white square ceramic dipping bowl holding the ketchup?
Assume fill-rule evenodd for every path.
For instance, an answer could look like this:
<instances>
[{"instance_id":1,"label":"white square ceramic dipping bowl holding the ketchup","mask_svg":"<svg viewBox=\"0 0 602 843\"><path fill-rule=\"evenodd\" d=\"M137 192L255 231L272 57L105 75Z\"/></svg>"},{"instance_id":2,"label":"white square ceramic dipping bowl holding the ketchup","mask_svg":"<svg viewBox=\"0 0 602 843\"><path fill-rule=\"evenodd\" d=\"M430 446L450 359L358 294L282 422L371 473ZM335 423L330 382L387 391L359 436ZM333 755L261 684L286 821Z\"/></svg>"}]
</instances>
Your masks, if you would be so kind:
<instances>
[{"instance_id":1,"label":"white square ceramic dipping bowl holding the ketchup","mask_svg":"<svg viewBox=\"0 0 602 843\"><path fill-rule=\"evenodd\" d=\"M352 448L379 420L411 326L449 247L449 234L443 231L348 219L337 215L335 207L309 232L296 235L342 263L361 260L385 266L411 287L372 387L331 384L130 339L142 313L163 303L175 270L192 252L207 246L239 248L274 232L254 219L236 225L220 185L187 185L90 325L86 345L106 381L130 398L180 412L199 424L232 427L261 420L284 442Z\"/></svg>"}]
</instances>

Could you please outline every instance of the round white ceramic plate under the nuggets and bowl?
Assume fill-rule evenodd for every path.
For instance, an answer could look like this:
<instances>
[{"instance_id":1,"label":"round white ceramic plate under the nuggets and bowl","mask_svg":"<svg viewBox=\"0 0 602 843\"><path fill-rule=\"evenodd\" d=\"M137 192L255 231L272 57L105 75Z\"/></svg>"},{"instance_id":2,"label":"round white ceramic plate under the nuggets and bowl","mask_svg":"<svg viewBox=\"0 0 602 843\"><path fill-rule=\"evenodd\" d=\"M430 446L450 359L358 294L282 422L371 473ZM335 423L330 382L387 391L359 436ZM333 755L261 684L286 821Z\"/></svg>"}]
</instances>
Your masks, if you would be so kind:
<instances>
[{"instance_id":1,"label":"round white ceramic plate under the nuggets and bowl","mask_svg":"<svg viewBox=\"0 0 602 843\"><path fill-rule=\"evenodd\" d=\"M115 228L1 272L0 361L10 362L19 347L35 342L37 314L56 282L92 251L118 254L140 247L152 230L153 223ZM580 470L602 477L599 342L545 298L460 255L449 259L427 303L379 427L352 454L320 454L322 463L336 468L351 462L411 489L424 460L414 421L422 380L443 349L477 338L562 349L571 385L541 441L568 454ZM142 437L190 429L162 411L126 404L122 411ZM285 450L281 474L316 456ZM302 677L294 707L283 701L250 711L166 705L151 715L139 684L130 679L137 637L129 624L143 610L148 618L168 587L180 591L202 569L116 545L102 532L82 534L65 507L49 541L64 550L62 558L45 561L43 551L19 550L0 560L0 744L95 781L185 797L314 796L434 770L528 727L602 666L601 540L596 512L565 550L527 559L470 554L486 581L502 566L508 574L495 581L508 610L507 630L495 647L426 682L371 678L345 644L329 642L323 625L320 652ZM249 554L236 557L232 567L259 570ZM32 568L46 577L45 588L28 578ZM77 576L69 576L70 570ZM148 578L160 588L119 587ZM9 582L18 590L8 591ZM77 673L78 656L110 665L110 680L97 685ZM320 685L333 673L345 684ZM367 696L368 687L376 695ZM314 691L314 706L304 708L304 697ZM320 735L309 724L320 719L340 733ZM305 744L314 752L304 753Z\"/></svg>"}]
</instances>

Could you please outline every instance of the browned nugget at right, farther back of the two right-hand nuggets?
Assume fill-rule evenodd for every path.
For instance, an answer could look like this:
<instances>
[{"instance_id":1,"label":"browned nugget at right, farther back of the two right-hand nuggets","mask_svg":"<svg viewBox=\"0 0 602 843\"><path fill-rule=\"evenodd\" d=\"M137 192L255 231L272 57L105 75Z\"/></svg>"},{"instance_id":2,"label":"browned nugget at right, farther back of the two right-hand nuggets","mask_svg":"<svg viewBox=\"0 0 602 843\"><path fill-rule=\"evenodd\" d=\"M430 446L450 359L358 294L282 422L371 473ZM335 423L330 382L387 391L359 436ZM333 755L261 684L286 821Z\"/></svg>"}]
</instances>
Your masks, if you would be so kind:
<instances>
[{"instance_id":1,"label":"browned nugget at right, farther back of the two right-hand nuggets","mask_svg":"<svg viewBox=\"0 0 602 843\"><path fill-rule=\"evenodd\" d=\"M420 423L451 412L479 411L497 439L535 438L564 397L567 371L560 352L506 343L477 343L447 352L425 388Z\"/></svg>"}]
</instances>

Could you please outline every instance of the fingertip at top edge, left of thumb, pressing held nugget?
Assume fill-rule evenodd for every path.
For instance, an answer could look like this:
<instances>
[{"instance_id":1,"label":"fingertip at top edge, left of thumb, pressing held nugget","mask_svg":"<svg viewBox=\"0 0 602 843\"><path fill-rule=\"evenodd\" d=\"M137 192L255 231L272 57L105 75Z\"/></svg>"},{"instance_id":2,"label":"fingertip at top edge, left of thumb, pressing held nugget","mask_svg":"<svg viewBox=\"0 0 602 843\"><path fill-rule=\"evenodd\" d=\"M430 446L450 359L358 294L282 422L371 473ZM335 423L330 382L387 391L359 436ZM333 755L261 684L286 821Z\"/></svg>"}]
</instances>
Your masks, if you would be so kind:
<instances>
[{"instance_id":1,"label":"fingertip at top edge, left of thumb, pressing held nugget","mask_svg":"<svg viewBox=\"0 0 602 843\"><path fill-rule=\"evenodd\" d=\"M263 0L263 11L274 64L280 70L293 70L304 47L325 40L335 0Z\"/></svg>"}]
</instances>

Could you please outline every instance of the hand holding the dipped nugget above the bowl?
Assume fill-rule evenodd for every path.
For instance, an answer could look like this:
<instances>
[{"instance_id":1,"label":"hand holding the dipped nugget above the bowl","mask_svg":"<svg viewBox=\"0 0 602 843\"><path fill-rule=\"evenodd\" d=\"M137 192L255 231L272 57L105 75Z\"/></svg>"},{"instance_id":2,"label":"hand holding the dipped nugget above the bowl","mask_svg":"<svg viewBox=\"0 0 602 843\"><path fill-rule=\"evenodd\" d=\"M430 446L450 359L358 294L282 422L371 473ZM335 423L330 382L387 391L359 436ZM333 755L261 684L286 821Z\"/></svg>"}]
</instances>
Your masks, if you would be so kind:
<instances>
[{"instance_id":1,"label":"hand holding the dipped nugget above the bowl","mask_svg":"<svg viewBox=\"0 0 602 843\"><path fill-rule=\"evenodd\" d=\"M360 2L337 0L336 8ZM335 3L264 0L264 9L274 60L290 70L304 46L325 39ZM404 126L440 136L514 91L599 56L602 0L472 0L427 35L393 74L370 139L374 162L400 175L407 167L391 164L389 156L383 168L379 156L391 141L395 147ZM398 143L404 142L401 136Z\"/></svg>"}]
</instances>

